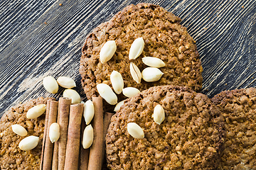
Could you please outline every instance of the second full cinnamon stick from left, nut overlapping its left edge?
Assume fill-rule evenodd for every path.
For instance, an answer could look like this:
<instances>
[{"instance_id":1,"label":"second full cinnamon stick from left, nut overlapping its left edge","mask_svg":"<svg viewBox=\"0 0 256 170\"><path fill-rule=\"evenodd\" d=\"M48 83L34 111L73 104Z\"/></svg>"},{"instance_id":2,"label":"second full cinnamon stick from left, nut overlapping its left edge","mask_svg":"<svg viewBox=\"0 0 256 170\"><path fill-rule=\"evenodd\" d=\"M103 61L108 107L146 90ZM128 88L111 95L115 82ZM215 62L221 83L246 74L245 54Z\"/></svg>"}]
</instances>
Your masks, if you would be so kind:
<instances>
[{"instance_id":1,"label":"second full cinnamon stick from left, nut overlapping its left edge","mask_svg":"<svg viewBox=\"0 0 256 170\"><path fill-rule=\"evenodd\" d=\"M59 125L60 138L58 140L58 170L63 170L65 165L65 152L68 140L68 117L70 115L71 98L59 99Z\"/></svg>"}]
</instances>

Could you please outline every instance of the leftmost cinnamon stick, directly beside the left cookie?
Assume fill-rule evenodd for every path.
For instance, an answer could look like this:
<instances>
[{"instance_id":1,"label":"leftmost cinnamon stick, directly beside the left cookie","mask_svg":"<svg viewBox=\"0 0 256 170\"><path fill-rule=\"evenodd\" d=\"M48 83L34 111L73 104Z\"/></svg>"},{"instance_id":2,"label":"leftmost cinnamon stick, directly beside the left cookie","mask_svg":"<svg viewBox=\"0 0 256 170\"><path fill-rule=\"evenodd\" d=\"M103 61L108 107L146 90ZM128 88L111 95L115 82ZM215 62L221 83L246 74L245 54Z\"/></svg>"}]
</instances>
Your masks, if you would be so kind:
<instances>
[{"instance_id":1,"label":"leftmost cinnamon stick, directly beside the left cookie","mask_svg":"<svg viewBox=\"0 0 256 170\"><path fill-rule=\"evenodd\" d=\"M48 104L48 102L47 102ZM46 135L46 143L43 154L43 170L51 169L52 159L53 159L53 143L50 142L49 137L49 128L52 123L57 121L57 113L58 113L58 101L50 101L50 109L48 115L48 125L47 125L47 135Z\"/></svg>"}]
</instances>

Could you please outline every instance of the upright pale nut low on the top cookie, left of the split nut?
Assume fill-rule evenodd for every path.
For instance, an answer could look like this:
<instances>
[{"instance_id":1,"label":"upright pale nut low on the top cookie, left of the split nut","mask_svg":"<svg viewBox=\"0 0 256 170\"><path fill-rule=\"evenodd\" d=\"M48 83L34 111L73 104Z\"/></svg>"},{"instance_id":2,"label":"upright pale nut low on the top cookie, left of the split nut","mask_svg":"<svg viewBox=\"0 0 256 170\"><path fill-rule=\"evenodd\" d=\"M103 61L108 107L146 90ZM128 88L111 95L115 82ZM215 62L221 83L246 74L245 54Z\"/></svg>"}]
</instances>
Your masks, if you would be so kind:
<instances>
[{"instance_id":1,"label":"upright pale nut low on the top cookie, left of the split nut","mask_svg":"<svg viewBox=\"0 0 256 170\"><path fill-rule=\"evenodd\" d=\"M124 80L122 79L122 75L117 71L113 71L110 74L110 81L111 81L114 91L117 94L121 94L122 89L124 88Z\"/></svg>"}]
</instances>

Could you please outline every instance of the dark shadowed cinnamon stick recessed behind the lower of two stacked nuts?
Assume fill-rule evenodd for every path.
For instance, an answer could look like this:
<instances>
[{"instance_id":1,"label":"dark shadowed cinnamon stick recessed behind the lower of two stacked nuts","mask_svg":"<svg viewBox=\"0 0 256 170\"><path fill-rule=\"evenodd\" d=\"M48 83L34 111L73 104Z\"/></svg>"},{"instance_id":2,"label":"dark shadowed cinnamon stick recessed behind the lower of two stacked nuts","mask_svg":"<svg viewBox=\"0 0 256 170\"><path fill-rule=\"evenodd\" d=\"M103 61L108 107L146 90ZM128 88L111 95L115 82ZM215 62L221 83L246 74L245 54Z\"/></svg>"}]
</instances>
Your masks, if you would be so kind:
<instances>
[{"instance_id":1,"label":"dark shadowed cinnamon stick recessed behind the lower of two stacked nuts","mask_svg":"<svg viewBox=\"0 0 256 170\"><path fill-rule=\"evenodd\" d=\"M82 134L85 130L85 119L82 118L82 124L81 124L81 137L80 137L80 170L87 170L88 168L88 162L89 162L89 152L90 148L84 149L82 147Z\"/></svg>"}]
</instances>

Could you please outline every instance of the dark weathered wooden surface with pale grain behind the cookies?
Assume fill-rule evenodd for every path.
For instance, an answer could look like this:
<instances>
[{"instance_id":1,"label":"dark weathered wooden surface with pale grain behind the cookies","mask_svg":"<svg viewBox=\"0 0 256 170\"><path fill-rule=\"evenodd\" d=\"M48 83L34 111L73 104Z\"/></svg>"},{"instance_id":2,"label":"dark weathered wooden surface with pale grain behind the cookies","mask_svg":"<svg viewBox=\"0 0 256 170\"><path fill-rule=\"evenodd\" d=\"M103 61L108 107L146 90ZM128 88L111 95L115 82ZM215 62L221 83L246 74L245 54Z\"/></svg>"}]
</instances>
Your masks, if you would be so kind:
<instances>
[{"instance_id":1,"label":"dark weathered wooden surface with pale grain behind the cookies","mask_svg":"<svg viewBox=\"0 0 256 170\"><path fill-rule=\"evenodd\" d=\"M202 93L255 86L256 1L0 1L0 116L29 98L53 96L43 77L75 79L88 33L129 4L158 4L182 19L203 64ZM60 5L61 4L61 5Z\"/></svg>"}]
</instances>

